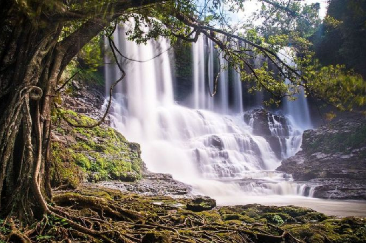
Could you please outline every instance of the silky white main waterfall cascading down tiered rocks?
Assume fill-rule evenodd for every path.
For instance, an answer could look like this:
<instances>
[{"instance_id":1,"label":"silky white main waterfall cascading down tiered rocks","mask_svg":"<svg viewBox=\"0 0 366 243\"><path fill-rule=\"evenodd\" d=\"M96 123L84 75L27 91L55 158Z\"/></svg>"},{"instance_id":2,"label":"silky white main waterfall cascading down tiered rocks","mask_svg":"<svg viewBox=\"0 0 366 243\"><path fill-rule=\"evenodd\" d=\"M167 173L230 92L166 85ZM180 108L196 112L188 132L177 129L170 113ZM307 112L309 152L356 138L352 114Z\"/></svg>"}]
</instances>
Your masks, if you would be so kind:
<instances>
[{"instance_id":1,"label":"silky white main waterfall cascading down tiered rocks","mask_svg":"<svg viewBox=\"0 0 366 243\"><path fill-rule=\"evenodd\" d=\"M118 27L113 35L117 48L130 60L121 57L126 78L114 95L112 123L127 139L141 144L150 171L171 173L191 184L194 192L214 198L240 192L311 196L309 186L273 171L281 159L299 150L302 132L291 120L266 117L268 137L277 139L280 147L276 152L269 140L256 134L256 115L243 119L245 94L237 72L221 67L217 95L210 96L213 72L220 69L212 42L200 37L193 44L193 90L190 105L183 106L173 98L169 42L160 38L137 45L127 40L126 28ZM219 59L226 65L222 56ZM115 65L105 67L107 89L118 75Z\"/></svg>"}]
</instances>

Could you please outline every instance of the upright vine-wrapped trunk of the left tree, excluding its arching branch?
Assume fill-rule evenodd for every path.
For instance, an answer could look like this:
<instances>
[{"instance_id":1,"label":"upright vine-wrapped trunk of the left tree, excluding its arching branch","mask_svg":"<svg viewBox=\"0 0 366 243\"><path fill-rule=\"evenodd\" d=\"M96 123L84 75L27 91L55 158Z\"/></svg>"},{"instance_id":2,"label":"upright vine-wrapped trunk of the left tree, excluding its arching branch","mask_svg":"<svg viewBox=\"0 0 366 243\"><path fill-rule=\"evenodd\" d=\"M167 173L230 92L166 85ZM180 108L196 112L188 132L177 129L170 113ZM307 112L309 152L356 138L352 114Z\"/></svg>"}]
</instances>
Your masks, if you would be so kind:
<instances>
[{"instance_id":1,"label":"upright vine-wrapped trunk of the left tree, excluding its arching branch","mask_svg":"<svg viewBox=\"0 0 366 243\"><path fill-rule=\"evenodd\" d=\"M0 51L0 208L31 219L33 212L44 213L42 207L32 208L39 209L39 198L51 192L39 172L49 168L45 155L61 28L42 28L21 12L2 14L6 17Z\"/></svg>"}]
</instances>

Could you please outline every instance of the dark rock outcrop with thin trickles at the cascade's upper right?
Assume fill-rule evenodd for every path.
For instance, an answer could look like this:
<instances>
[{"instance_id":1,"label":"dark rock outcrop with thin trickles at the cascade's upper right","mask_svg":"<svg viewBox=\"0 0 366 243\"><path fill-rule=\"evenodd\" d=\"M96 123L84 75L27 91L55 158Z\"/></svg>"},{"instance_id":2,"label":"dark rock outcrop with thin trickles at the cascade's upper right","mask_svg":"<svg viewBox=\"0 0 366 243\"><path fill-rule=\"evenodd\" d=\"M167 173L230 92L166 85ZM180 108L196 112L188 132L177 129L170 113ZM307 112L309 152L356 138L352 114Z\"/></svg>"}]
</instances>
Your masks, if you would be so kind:
<instances>
[{"instance_id":1,"label":"dark rock outcrop with thin trickles at the cascade's upper right","mask_svg":"<svg viewBox=\"0 0 366 243\"><path fill-rule=\"evenodd\" d=\"M244 122L253 124L253 134L264 137L278 158L282 155L282 146L289 136L289 128L284 116L275 115L264 109L254 109L244 114Z\"/></svg>"}]
</instances>

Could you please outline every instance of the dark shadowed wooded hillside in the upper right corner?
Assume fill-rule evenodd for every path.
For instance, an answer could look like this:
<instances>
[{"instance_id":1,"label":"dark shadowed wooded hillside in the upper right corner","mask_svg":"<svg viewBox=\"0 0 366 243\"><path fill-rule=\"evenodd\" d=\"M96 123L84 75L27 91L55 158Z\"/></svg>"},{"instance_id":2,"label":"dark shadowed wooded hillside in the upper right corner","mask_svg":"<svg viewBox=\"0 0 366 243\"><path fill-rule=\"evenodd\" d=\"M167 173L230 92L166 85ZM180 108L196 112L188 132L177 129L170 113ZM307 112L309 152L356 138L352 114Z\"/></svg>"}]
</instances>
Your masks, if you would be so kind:
<instances>
[{"instance_id":1,"label":"dark shadowed wooded hillside in the upper right corner","mask_svg":"<svg viewBox=\"0 0 366 243\"><path fill-rule=\"evenodd\" d=\"M323 65L344 64L366 77L365 16L365 1L329 1L324 22L310 37Z\"/></svg>"}]
</instances>

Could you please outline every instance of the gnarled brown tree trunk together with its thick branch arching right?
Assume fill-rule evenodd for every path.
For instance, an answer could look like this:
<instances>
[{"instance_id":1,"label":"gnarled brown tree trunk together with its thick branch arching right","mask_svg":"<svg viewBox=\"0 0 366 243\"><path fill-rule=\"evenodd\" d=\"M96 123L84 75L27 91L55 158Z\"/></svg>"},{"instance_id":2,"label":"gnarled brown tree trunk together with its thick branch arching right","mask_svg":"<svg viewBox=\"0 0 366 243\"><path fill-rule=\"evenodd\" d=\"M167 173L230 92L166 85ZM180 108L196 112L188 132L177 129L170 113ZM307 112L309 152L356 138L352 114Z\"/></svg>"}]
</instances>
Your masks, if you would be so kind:
<instances>
[{"instance_id":1,"label":"gnarled brown tree trunk together with its thick branch arching right","mask_svg":"<svg viewBox=\"0 0 366 243\"><path fill-rule=\"evenodd\" d=\"M63 1L54 1L63 6ZM87 42L126 10L158 2L163 1L121 0L91 11L91 16L51 10L37 0L0 1L2 214L32 220L49 212L51 109L62 72ZM85 23L58 41L70 18Z\"/></svg>"}]
</instances>

